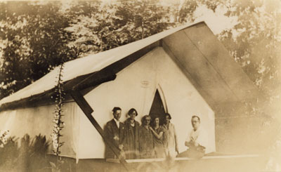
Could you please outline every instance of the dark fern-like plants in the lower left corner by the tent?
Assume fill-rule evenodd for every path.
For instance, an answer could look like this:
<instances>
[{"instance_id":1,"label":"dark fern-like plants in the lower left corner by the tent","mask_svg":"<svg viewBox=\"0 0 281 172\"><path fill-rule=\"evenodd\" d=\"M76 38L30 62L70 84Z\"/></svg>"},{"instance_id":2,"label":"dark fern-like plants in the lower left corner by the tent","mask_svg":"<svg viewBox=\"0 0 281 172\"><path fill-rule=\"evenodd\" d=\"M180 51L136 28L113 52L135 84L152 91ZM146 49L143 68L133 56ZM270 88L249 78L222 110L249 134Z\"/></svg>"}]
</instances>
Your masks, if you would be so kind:
<instances>
[{"instance_id":1,"label":"dark fern-like plants in the lower left corner by the tent","mask_svg":"<svg viewBox=\"0 0 281 172\"><path fill-rule=\"evenodd\" d=\"M49 143L43 135L33 139L25 135L20 139L9 137L3 147L0 147L0 168L4 171L42 171L48 166L46 154Z\"/></svg>"}]
</instances>

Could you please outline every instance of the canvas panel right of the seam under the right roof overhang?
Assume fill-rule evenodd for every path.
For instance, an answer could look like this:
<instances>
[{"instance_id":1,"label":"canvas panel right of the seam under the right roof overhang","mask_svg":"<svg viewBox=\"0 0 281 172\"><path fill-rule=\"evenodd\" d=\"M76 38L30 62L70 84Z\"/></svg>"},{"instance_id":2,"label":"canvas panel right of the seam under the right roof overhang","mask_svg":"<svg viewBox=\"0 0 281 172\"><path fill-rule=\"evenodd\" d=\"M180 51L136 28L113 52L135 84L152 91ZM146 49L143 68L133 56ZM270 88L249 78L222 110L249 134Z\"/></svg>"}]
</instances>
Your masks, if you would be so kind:
<instances>
[{"instance_id":1,"label":"canvas panel right of the seam under the right roof overhang","mask_svg":"<svg viewBox=\"0 0 281 172\"><path fill-rule=\"evenodd\" d=\"M241 66L233 58L228 58L230 54L223 44L214 34L209 34L212 32L208 27L200 27L200 29L198 27L200 25L185 29L184 32L195 47L200 49L202 55L214 67L221 79L226 82L234 96L240 100L256 97L259 94L258 89L244 73ZM248 96L247 93L254 96Z\"/></svg>"}]
</instances>

